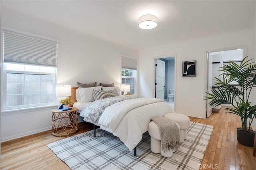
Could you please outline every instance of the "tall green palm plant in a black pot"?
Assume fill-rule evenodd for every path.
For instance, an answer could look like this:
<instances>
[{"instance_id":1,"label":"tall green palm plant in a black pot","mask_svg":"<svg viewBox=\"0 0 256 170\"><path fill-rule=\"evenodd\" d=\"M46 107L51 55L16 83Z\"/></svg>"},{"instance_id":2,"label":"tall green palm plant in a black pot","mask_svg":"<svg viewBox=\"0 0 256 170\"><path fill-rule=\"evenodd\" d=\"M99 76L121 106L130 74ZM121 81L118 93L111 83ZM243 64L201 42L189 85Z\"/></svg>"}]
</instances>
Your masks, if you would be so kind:
<instances>
[{"instance_id":1,"label":"tall green palm plant in a black pot","mask_svg":"<svg viewBox=\"0 0 256 170\"><path fill-rule=\"evenodd\" d=\"M247 56L248 57L248 56ZM245 146L253 147L255 131L250 129L252 121L256 119L256 105L252 106L250 94L256 87L256 64L251 63L245 57L238 65L230 61L229 65L220 67L223 80L215 77L217 86L212 88L212 93L204 98L210 100L210 106L219 106L222 104L231 104L232 108L225 108L229 113L239 115L242 121L242 127L238 127L237 141ZM237 82L234 86L231 82ZM248 129L247 129L248 125Z\"/></svg>"}]
</instances>

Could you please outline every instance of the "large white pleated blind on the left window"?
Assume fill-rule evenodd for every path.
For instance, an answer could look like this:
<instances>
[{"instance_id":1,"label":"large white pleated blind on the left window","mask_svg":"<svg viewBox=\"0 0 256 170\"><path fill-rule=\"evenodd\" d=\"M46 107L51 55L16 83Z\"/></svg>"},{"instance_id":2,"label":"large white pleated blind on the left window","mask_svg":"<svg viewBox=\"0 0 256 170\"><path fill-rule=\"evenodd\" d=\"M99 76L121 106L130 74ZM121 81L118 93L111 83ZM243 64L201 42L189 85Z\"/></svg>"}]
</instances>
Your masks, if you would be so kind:
<instances>
[{"instance_id":1,"label":"large white pleated blind on the left window","mask_svg":"<svg viewBox=\"0 0 256 170\"><path fill-rule=\"evenodd\" d=\"M4 63L57 66L57 42L3 30Z\"/></svg>"}]
</instances>

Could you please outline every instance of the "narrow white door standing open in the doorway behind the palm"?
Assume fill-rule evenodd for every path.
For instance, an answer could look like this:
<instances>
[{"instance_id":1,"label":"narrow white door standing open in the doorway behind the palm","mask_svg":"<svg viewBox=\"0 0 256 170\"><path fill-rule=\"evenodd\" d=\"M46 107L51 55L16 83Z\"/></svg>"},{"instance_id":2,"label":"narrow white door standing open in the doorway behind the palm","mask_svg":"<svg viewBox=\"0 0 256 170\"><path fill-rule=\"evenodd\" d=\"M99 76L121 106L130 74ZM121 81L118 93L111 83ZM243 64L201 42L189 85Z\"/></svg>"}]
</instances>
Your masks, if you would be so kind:
<instances>
[{"instance_id":1,"label":"narrow white door standing open in the doorway behind the palm","mask_svg":"<svg viewBox=\"0 0 256 170\"><path fill-rule=\"evenodd\" d=\"M208 78L207 78L207 92L212 93L212 55L207 53L207 61L208 61ZM206 117L210 117L212 114L212 106L209 106L210 100L207 100L207 109L206 109Z\"/></svg>"}]
</instances>

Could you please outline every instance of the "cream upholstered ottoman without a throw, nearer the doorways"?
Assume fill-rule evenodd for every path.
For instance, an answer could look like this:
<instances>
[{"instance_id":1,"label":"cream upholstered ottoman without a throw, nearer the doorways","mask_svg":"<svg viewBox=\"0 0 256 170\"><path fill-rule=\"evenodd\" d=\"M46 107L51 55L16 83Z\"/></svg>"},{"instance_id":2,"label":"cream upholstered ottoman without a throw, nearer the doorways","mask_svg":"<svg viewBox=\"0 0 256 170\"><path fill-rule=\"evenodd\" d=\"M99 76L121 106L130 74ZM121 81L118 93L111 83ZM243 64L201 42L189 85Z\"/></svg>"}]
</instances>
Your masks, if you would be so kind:
<instances>
[{"instance_id":1,"label":"cream upholstered ottoman without a throw, nearer the doorways","mask_svg":"<svg viewBox=\"0 0 256 170\"><path fill-rule=\"evenodd\" d=\"M190 126L189 117L179 113L167 113L164 117L173 120L180 125L180 143L184 142L184 140L187 139L187 129Z\"/></svg>"}]
</instances>

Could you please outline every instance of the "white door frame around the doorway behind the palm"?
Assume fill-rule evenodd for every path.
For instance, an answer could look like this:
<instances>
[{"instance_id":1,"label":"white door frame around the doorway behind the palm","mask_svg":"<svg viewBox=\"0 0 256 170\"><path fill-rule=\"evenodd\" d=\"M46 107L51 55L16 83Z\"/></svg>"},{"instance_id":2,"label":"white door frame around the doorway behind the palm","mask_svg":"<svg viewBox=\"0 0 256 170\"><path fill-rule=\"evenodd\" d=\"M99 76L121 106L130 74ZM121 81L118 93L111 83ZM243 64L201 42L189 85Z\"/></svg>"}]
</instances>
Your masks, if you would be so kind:
<instances>
[{"instance_id":1,"label":"white door frame around the doorway behind the palm","mask_svg":"<svg viewBox=\"0 0 256 170\"><path fill-rule=\"evenodd\" d=\"M213 53L213 52L218 52L218 51L228 51L228 50L235 50L235 49L243 49L243 59L247 56L247 46L246 45L238 45L234 47L226 47L222 49L212 49L212 50L206 50L204 51L204 91L203 91L203 96L206 95L206 90L207 90L207 78L208 78L208 61L207 61L207 53ZM206 119L206 112L207 110L207 100L204 100L204 107L202 113L205 113L203 115L203 119Z\"/></svg>"}]
</instances>

